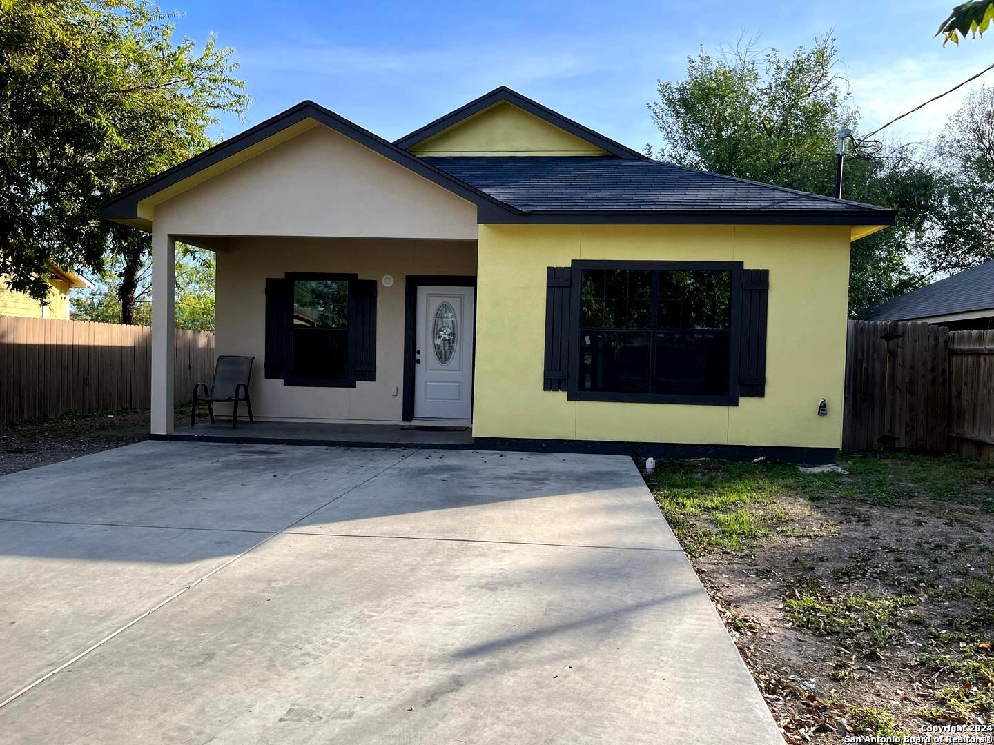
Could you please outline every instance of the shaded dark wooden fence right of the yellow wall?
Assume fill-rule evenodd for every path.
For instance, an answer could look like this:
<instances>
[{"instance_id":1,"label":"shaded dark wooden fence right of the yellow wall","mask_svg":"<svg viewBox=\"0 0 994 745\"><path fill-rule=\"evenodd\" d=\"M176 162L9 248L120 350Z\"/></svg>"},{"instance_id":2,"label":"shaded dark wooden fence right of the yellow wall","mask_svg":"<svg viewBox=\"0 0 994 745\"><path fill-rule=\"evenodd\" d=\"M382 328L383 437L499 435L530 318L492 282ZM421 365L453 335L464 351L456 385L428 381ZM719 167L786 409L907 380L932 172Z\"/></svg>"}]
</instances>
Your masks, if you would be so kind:
<instances>
[{"instance_id":1,"label":"shaded dark wooden fence right of the yellow wall","mask_svg":"<svg viewBox=\"0 0 994 745\"><path fill-rule=\"evenodd\" d=\"M994 331L850 321L843 450L994 461Z\"/></svg>"}]
</instances>

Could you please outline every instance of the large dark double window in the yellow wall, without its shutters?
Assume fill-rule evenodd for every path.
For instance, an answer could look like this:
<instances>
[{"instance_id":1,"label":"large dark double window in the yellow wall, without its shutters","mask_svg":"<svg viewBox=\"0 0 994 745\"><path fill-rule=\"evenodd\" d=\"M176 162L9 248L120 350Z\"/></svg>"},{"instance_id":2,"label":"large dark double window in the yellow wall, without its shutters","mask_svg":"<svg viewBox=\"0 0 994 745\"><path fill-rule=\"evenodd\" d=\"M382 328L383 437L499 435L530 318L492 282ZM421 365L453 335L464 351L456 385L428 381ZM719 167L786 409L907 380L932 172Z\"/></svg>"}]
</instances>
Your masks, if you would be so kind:
<instances>
[{"instance_id":1,"label":"large dark double window in the yellow wall, without its shutters","mask_svg":"<svg viewBox=\"0 0 994 745\"><path fill-rule=\"evenodd\" d=\"M577 262L576 268L576 397L728 403L736 395L735 265Z\"/></svg>"}]
</instances>

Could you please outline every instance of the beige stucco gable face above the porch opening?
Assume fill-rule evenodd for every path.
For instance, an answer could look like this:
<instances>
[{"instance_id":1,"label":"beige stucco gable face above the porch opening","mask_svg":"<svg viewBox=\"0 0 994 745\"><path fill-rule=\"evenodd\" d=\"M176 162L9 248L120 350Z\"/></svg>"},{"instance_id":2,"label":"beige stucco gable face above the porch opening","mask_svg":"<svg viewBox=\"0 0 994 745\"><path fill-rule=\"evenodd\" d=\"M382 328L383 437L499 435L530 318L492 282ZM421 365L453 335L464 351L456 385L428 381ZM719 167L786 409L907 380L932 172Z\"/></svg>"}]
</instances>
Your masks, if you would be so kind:
<instances>
[{"instance_id":1,"label":"beige stucco gable face above the porch opening","mask_svg":"<svg viewBox=\"0 0 994 745\"><path fill-rule=\"evenodd\" d=\"M475 240L476 207L317 125L157 205L155 231Z\"/></svg>"}]
</instances>

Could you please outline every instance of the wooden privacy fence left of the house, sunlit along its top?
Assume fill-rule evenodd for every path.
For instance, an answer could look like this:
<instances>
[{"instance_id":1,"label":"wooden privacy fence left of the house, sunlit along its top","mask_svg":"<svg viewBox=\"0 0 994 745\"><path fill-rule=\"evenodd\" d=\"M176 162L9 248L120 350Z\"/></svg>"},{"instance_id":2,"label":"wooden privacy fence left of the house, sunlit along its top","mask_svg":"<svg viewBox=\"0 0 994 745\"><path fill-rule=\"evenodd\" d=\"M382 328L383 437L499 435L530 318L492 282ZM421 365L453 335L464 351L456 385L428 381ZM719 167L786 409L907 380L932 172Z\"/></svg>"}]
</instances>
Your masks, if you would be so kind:
<instances>
[{"instance_id":1,"label":"wooden privacy fence left of the house, sunlit along its top","mask_svg":"<svg viewBox=\"0 0 994 745\"><path fill-rule=\"evenodd\" d=\"M151 329L0 316L0 424L147 408ZM214 371L214 334L176 330L176 400Z\"/></svg>"}]
</instances>

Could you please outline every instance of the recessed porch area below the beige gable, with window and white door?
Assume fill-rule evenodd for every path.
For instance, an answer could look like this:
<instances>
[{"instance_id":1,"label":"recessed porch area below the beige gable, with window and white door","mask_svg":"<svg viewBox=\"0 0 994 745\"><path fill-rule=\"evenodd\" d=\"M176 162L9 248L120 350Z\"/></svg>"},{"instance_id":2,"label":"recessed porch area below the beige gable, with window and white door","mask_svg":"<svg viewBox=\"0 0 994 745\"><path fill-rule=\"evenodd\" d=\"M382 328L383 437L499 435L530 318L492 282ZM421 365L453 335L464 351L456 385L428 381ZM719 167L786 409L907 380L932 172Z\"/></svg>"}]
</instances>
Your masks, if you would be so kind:
<instances>
[{"instance_id":1,"label":"recessed porch area below the beige gable, with window and white door","mask_svg":"<svg viewBox=\"0 0 994 745\"><path fill-rule=\"evenodd\" d=\"M168 236L153 278L170 284L153 288L153 308L169 308L153 312L153 434L174 432L173 404L191 394L171 389L175 361L162 354L173 347L174 278L158 267L173 266L180 241L217 252L216 352L254 359L255 423L243 404L233 432L233 404L216 403L218 424L176 434L471 444L477 246L459 239Z\"/></svg>"}]
</instances>

